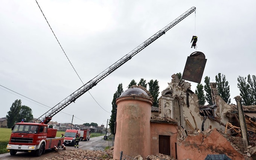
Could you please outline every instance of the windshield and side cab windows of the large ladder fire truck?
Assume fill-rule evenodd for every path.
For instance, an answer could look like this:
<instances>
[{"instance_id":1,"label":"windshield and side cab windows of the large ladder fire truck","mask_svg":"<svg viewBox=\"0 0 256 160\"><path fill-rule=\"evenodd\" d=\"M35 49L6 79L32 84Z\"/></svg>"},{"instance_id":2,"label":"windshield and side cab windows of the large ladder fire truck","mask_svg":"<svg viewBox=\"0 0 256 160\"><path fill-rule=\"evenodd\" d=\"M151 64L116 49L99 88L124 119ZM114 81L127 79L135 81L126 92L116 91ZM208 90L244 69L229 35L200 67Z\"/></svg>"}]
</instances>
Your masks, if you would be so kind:
<instances>
[{"instance_id":1,"label":"windshield and side cab windows of the large ladder fire truck","mask_svg":"<svg viewBox=\"0 0 256 160\"><path fill-rule=\"evenodd\" d=\"M12 133L38 133L38 125L15 125Z\"/></svg>"}]
</instances>

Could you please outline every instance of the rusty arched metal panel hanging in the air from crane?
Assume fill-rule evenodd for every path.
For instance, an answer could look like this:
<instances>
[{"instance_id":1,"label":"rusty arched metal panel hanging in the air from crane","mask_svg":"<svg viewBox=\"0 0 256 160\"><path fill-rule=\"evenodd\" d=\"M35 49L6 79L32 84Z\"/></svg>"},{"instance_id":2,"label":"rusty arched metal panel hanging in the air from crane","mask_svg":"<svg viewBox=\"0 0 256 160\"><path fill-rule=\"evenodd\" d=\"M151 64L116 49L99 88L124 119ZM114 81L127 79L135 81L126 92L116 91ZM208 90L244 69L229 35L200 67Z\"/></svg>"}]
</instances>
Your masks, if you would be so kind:
<instances>
[{"instance_id":1,"label":"rusty arched metal panel hanging in the air from crane","mask_svg":"<svg viewBox=\"0 0 256 160\"><path fill-rule=\"evenodd\" d=\"M191 53L191 55L187 57L182 79L200 84L206 61L207 59L205 59L203 52Z\"/></svg>"}]
</instances>

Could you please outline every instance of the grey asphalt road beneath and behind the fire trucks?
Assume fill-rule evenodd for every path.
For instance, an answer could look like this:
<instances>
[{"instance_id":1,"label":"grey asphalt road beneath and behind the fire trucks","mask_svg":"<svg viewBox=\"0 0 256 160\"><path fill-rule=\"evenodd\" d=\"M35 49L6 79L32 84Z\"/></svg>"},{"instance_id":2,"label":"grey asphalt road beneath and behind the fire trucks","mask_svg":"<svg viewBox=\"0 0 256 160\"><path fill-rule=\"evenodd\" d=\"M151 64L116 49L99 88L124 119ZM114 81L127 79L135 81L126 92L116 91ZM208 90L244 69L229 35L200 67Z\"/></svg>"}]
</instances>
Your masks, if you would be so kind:
<instances>
[{"instance_id":1,"label":"grey asphalt road beneath and behind the fire trucks","mask_svg":"<svg viewBox=\"0 0 256 160\"><path fill-rule=\"evenodd\" d=\"M79 149L83 150L104 150L107 146L113 146L111 141L103 139L104 136L90 138L89 141L80 141ZM74 146L66 146L66 150L75 149ZM59 152L64 151L59 149ZM49 158L51 155L56 154L54 151L46 151L41 157L34 157L31 153L17 152L16 155L10 155L10 153L0 154L0 160L39 160L43 158Z\"/></svg>"}]
</instances>

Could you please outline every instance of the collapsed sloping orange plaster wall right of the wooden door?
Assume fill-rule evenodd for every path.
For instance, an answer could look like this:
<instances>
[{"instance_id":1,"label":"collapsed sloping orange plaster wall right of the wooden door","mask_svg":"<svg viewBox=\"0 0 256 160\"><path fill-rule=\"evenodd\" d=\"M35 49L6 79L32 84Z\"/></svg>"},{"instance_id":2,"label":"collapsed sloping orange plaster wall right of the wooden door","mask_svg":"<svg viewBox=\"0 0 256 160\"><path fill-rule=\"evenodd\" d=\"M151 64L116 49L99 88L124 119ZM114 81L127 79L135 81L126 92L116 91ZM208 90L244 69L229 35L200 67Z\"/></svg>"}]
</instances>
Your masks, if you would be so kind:
<instances>
[{"instance_id":1,"label":"collapsed sloping orange plaster wall right of the wooden door","mask_svg":"<svg viewBox=\"0 0 256 160\"><path fill-rule=\"evenodd\" d=\"M209 133L189 134L177 143L178 159L204 160L207 154L226 154L232 160L245 160L244 155L238 152L216 128Z\"/></svg>"}]
</instances>

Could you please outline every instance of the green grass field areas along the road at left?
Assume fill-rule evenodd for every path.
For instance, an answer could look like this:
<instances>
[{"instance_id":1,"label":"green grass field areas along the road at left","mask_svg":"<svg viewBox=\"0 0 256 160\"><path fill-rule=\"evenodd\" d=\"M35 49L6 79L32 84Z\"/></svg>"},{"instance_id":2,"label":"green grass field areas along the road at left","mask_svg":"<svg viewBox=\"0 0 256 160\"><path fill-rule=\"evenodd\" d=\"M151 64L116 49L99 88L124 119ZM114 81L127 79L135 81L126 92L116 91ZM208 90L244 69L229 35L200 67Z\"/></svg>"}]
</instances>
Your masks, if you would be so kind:
<instances>
[{"instance_id":1,"label":"green grass field areas along the road at left","mask_svg":"<svg viewBox=\"0 0 256 160\"><path fill-rule=\"evenodd\" d=\"M0 128L0 154L7 153L6 146L10 140L11 133L11 128ZM61 133L65 133L65 131L57 131L56 137L60 137ZM91 133L91 137L98 137L104 135L105 134Z\"/></svg>"}]
</instances>

